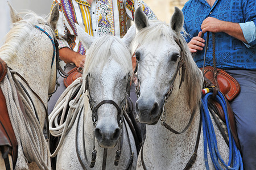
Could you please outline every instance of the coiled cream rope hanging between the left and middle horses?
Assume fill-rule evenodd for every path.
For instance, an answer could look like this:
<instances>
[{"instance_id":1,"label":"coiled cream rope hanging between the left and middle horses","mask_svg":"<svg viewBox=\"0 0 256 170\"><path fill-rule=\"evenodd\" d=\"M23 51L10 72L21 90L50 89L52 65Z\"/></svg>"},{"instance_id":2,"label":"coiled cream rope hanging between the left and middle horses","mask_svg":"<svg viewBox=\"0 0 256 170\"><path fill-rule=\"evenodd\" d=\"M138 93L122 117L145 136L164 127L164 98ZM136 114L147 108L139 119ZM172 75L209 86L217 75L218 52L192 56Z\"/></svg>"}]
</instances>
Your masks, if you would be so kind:
<instances>
[{"instance_id":1,"label":"coiled cream rope hanging between the left and middle horses","mask_svg":"<svg viewBox=\"0 0 256 170\"><path fill-rule=\"evenodd\" d=\"M84 105L84 88L81 88L81 86L80 77L65 89L59 100L57 100L52 113L49 115L49 131L54 137L60 137L55 151L51 154L52 158L59 152L65 135L72 128L80 108ZM73 94L77 94L75 99L72 99ZM68 113L66 114L67 111ZM59 117L61 117L60 121L58 121Z\"/></svg>"}]
</instances>

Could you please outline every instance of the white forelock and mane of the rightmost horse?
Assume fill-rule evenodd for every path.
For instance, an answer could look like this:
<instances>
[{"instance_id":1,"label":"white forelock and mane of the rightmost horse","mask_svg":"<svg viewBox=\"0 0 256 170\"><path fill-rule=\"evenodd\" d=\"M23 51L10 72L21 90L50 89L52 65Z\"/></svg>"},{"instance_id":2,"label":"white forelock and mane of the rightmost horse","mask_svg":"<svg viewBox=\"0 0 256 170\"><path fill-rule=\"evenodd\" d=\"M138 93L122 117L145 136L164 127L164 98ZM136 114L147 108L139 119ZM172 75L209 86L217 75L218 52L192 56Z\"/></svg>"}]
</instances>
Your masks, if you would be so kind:
<instances>
[{"instance_id":1,"label":"white forelock and mane of the rightmost horse","mask_svg":"<svg viewBox=\"0 0 256 170\"><path fill-rule=\"evenodd\" d=\"M186 36L184 29L182 30ZM201 99L201 83L203 82L203 74L198 69L196 63L193 61L191 53L189 51L187 42L184 37L180 35L177 37L176 33L172 31L170 26L164 22L150 20L150 25L139 31L133 41L133 53L139 45L143 45L146 42L155 41L156 44L162 41L162 37L166 37L170 44L173 44L174 37L180 40L182 48L184 50L184 61L186 62L185 69L185 88L187 90L188 103L194 108L200 103ZM193 89L193 90L191 90Z\"/></svg>"}]
</instances>

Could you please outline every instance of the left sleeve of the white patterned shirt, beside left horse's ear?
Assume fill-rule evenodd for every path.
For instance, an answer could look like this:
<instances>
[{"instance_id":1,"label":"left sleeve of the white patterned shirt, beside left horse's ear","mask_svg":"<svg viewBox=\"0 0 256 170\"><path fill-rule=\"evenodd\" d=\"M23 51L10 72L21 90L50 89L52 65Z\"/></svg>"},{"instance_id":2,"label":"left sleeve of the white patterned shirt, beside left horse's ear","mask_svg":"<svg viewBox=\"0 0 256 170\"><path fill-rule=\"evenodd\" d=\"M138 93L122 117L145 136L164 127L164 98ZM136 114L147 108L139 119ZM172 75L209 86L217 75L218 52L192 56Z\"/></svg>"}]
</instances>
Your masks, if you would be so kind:
<instances>
[{"instance_id":1,"label":"left sleeve of the white patterned shirt, beside left horse's ear","mask_svg":"<svg viewBox=\"0 0 256 170\"><path fill-rule=\"evenodd\" d=\"M57 41L59 42L59 49L64 48L64 47L69 48L69 44L65 40L65 37L67 37L67 28L65 26L64 14L63 14L61 5L59 2L53 1L52 7L55 6L55 4L57 4L57 3L59 5L59 14L60 15L59 15L59 20L57 21L55 35L56 35Z\"/></svg>"}]
</instances>

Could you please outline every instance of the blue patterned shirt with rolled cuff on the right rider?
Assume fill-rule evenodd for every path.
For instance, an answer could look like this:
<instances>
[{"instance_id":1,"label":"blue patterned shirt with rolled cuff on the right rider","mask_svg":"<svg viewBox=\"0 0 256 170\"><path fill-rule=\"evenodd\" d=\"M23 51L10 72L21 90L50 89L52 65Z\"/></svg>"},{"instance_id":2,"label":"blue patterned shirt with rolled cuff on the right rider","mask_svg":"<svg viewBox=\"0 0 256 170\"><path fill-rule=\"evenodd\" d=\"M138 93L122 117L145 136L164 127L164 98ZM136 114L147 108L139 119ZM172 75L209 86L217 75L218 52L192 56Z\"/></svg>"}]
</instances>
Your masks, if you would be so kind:
<instances>
[{"instance_id":1,"label":"blue patterned shirt with rolled cuff on the right rider","mask_svg":"<svg viewBox=\"0 0 256 170\"><path fill-rule=\"evenodd\" d=\"M190 0L182 9L184 29L190 37L201 31L201 24L208 16L227 22L240 23L243 35L249 44L229 36L224 32L215 33L216 63L219 68L256 70L256 6L255 0L216 0L212 7L205 0ZM207 33L204 35L206 40ZM213 66L212 33L210 33L205 66ZM204 50L195 56L197 66L203 67Z\"/></svg>"}]
</instances>

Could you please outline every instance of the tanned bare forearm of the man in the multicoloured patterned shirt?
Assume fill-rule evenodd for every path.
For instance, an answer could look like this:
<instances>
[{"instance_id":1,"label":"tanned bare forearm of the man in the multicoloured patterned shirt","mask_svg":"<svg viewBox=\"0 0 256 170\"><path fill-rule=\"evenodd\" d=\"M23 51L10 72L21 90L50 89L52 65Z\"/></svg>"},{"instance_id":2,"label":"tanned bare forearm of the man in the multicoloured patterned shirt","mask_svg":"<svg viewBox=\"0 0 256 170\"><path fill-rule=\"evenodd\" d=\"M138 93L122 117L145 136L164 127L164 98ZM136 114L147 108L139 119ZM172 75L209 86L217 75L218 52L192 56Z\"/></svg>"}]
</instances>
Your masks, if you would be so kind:
<instances>
[{"instance_id":1,"label":"tanned bare forearm of the man in the multicoloured patterned shirt","mask_svg":"<svg viewBox=\"0 0 256 170\"><path fill-rule=\"evenodd\" d=\"M85 55L74 52L68 47L59 49L60 59L65 63L74 63L77 67L84 67Z\"/></svg>"}]
</instances>

